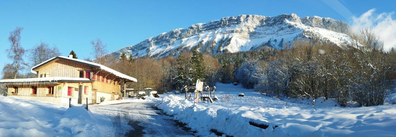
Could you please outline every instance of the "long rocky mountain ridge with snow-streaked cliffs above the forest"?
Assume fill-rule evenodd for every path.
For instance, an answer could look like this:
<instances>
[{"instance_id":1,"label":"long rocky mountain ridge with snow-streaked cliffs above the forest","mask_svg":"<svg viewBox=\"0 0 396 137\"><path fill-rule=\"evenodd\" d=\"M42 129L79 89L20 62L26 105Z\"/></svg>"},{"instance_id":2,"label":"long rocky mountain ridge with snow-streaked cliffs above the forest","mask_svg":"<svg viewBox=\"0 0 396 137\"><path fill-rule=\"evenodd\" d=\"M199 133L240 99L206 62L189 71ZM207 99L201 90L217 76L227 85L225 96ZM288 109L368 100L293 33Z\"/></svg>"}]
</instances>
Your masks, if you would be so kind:
<instances>
[{"instance_id":1,"label":"long rocky mountain ridge with snow-streaked cliffs above the forest","mask_svg":"<svg viewBox=\"0 0 396 137\"><path fill-rule=\"evenodd\" d=\"M184 49L199 46L211 54L255 50L262 46L282 48L285 41L298 37L333 42L339 46L351 43L348 24L318 16L300 18L296 14L276 17L239 15L173 29L127 46L110 54L125 52L133 56L177 56Z\"/></svg>"}]
</instances>

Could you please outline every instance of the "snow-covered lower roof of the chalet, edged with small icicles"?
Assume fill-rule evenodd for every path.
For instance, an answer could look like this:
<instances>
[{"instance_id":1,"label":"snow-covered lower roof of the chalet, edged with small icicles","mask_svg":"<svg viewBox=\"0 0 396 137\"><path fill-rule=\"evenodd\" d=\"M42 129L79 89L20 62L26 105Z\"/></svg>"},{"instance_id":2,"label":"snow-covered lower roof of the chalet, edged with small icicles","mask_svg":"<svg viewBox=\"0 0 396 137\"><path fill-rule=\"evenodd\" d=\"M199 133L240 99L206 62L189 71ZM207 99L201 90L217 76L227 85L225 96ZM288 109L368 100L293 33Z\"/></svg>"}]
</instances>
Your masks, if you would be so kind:
<instances>
[{"instance_id":1,"label":"snow-covered lower roof of the chalet, edged with small icicles","mask_svg":"<svg viewBox=\"0 0 396 137\"><path fill-rule=\"evenodd\" d=\"M87 78L77 78L77 77L38 77L38 78L28 78L28 79L2 79L0 83L16 83L16 82L55 82L55 81L76 81L76 82L89 82L91 80Z\"/></svg>"}]
</instances>

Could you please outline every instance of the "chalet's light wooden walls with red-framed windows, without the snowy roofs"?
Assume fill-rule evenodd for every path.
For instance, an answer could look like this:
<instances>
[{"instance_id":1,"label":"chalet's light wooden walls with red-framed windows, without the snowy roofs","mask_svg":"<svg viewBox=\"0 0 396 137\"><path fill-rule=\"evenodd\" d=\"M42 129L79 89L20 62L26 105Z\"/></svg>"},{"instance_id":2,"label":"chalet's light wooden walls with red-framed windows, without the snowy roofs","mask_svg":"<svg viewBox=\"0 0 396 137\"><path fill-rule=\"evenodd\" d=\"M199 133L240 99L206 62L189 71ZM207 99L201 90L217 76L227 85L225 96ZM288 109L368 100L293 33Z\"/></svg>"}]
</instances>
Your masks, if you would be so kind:
<instances>
[{"instance_id":1,"label":"chalet's light wooden walls with red-framed windows, without the snowy roofs","mask_svg":"<svg viewBox=\"0 0 396 137\"><path fill-rule=\"evenodd\" d=\"M59 79L61 79L67 77L89 80L2 83L7 85L8 95L25 96L27 99L34 96L44 98L46 101L48 101L47 98L50 101L68 100L68 98L72 98L72 102L76 102L75 100L78 99L79 103L81 103L81 99L86 100L86 98L88 98L88 102L93 103L100 103L100 97L105 97L105 100L119 99L118 97L122 96L120 81L125 79L94 66L95 65L90 65L82 61L70 61L59 58L45 62L36 68L32 68L32 71L37 72L38 79L45 79L46 77L59 77ZM62 101L61 103L65 102Z\"/></svg>"}]
</instances>

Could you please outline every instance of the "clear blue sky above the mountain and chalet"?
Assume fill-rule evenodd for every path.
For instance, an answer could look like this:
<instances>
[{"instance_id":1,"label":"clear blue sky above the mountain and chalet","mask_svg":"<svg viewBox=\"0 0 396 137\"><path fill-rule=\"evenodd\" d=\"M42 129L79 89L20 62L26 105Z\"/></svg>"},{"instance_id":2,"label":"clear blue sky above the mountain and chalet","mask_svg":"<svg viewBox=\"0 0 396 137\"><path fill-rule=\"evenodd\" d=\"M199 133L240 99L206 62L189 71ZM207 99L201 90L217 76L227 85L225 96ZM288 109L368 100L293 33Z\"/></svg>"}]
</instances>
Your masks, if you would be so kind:
<instances>
[{"instance_id":1,"label":"clear blue sky above the mountain and chalet","mask_svg":"<svg viewBox=\"0 0 396 137\"><path fill-rule=\"evenodd\" d=\"M242 14L276 16L295 13L352 21L375 8L395 10L395 0L0 0L0 67L10 63L4 50L8 35L24 27L21 45L31 48L40 41L58 46L63 56L74 50L79 58L92 58L90 41L101 38L109 52L136 44L175 28Z\"/></svg>"}]
</instances>

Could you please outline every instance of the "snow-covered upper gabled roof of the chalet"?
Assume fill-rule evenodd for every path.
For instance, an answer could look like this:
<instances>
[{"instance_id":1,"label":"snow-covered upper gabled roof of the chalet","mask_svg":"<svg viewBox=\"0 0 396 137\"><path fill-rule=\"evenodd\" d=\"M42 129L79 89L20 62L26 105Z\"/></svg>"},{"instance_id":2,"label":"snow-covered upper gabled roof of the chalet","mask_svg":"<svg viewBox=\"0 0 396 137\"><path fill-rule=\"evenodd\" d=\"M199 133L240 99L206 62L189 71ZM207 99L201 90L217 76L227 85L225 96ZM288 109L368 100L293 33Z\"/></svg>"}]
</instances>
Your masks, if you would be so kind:
<instances>
[{"instance_id":1,"label":"snow-covered upper gabled roof of the chalet","mask_svg":"<svg viewBox=\"0 0 396 137\"><path fill-rule=\"evenodd\" d=\"M34 67L31 69L31 72L37 74L37 71L34 71L35 69L38 69L38 68L40 68L41 66L43 66L44 64L47 64L48 62L51 62L51 61L56 60L56 59L67 60L67 61L70 61L70 62L78 62L78 63L80 63L80 64L84 64L84 65L87 65L87 66L91 66L91 67L95 67L95 68L98 68L98 69L102 69L102 70L107 71L107 72L110 72L110 73L112 73L112 74L114 74L114 75L116 75L116 76L118 76L118 77L122 77L122 78L124 78L124 79L128 79L128 80L137 82L137 79L135 79L135 78L133 78L133 77L130 77L130 76L128 76L128 75L125 75L125 74L123 74L123 73L120 73L120 72L118 72L118 71L115 71L114 69L108 68L108 67L103 66L103 65L101 65L101 64L97 64L97 63L93 63L93 62L88 62L88 61L85 61L85 60L79 60L79 59L75 59L75 58L69 58L69 57L65 57L65 56L57 56L57 57L51 58L51 59L49 59L49 60L46 60L45 62L42 62L42 63L40 63L40 64L34 66Z\"/></svg>"}]
</instances>

